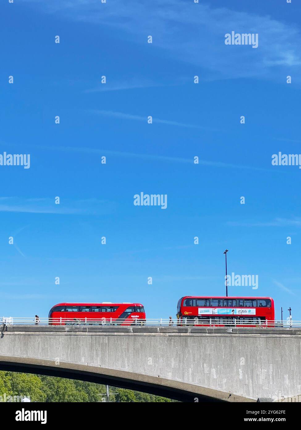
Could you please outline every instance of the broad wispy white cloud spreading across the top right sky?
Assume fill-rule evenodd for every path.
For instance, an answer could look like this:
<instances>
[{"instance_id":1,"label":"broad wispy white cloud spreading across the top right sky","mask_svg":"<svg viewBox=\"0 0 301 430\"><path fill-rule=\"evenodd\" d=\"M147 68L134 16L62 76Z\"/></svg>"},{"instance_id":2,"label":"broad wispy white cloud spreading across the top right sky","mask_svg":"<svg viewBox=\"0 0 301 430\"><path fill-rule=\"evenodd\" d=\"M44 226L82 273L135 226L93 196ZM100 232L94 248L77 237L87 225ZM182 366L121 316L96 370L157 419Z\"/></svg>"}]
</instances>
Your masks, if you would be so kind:
<instances>
[{"instance_id":1,"label":"broad wispy white cloud spreading across the top right sky","mask_svg":"<svg viewBox=\"0 0 301 430\"><path fill-rule=\"evenodd\" d=\"M111 26L133 43L145 43L151 34L151 49L202 68L205 80L259 77L279 79L279 69L300 77L301 35L297 25L260 15L213 7L187 0L25 0L49 13ZM258 10L258 9L257 9ZM258 48L226 46L225 34L258 33ZM116 32L114 32L116 37ZM148 46L149 48L150 46ZM161 52L159 52L161 55ZM294 69L297 68L297 69ZM273 73L273 71L275 71ZM286 76L286 75L285 75Z\"/></svg>"}]
</instances>

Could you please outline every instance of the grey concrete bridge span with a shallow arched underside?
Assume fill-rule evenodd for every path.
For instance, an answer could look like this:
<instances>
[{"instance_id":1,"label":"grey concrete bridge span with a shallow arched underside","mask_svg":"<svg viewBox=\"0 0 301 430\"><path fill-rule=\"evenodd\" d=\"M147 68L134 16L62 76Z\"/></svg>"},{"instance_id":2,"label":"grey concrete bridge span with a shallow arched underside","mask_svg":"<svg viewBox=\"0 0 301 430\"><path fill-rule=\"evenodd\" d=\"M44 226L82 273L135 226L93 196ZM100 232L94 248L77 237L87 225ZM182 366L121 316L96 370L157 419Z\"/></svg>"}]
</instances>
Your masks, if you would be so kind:
<instances>
[{"instance_id":1,"label":"grey concrete bridge span with a shallow arched underside","mask_svg":"<svg viewBox=\"0 0 301 430\"><path fill-rule=\"evenodd\" d=\"M0 370L182 401L272 401L301 394L300 330L9 326L0 335Z\"/></svg>"}]
</instances>

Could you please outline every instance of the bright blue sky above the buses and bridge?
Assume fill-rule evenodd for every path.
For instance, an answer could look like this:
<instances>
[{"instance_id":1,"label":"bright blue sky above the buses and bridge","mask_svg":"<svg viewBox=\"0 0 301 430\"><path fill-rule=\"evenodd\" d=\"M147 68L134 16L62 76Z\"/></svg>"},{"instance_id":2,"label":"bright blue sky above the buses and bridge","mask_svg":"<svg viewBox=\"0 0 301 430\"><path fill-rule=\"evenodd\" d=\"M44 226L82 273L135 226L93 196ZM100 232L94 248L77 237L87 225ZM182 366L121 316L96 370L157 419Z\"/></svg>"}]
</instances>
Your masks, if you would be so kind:
<instances>
[{"instance_id":1,"label":"bright blue sky above the buses and bridge","mask_svg":"<svg viewBox=\"0 0 301 430\"><path fill-rule=\"evenodd\" d=\"M301 153L300 12L3 0L0 154L30 154L30 169L0 166L1 315L137 301L175 316L183 295L224 295L227 248L228 272L258 275L230 295L271 296L277 318L291 306L301 320L301 171L271 165ZM225 45L231 31L258 33L258 48ZM141 191L167 194L167 209L134 206Z\"/></svg>"}]
</instances>

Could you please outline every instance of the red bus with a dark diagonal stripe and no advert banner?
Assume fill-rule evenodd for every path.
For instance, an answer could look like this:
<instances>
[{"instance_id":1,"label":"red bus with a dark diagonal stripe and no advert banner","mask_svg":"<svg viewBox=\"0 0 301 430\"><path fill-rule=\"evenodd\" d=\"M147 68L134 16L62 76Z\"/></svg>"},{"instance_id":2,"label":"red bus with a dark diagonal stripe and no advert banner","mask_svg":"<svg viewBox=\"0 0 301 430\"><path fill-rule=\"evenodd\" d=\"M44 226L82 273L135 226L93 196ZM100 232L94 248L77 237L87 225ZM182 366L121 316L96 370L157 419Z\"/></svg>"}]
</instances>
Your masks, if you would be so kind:
<instances>
[{"instance_id":1,"label":"red bus with a dark diagonal stripe and no advert banner","mask_svg":"<svg viewBox=\"0 0 301 430\"><path fill-rule=\"evenodd\" d=\"M146 319L140 303L58 303L49 311L50 325L99 325L130 326Z\"/></svg>"}]
</instances>

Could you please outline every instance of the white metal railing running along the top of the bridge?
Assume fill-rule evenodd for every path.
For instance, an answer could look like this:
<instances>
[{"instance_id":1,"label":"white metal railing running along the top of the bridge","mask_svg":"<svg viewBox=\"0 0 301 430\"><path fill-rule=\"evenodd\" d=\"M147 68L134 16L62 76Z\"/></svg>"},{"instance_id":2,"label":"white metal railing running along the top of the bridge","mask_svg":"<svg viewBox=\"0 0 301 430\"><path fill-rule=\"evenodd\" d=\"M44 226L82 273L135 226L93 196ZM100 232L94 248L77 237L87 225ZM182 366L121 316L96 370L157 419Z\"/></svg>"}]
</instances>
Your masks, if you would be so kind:
<instances>
[{"instance_id":1,"label":"white metal railing running along the top of the bridge","mask_svg":"<svg viewBox=\"0 0 301 430\"><path fill-rule=\"evenodd\" d=\"M258 321L254 322L253 320L249 320L245 318L244 320L240 319L219 319L214 320L213 318L208 319L175 319L170 322L170 319L166 318L154 318L154 319L139 319L139 318L126 318L126 319L117 319L117 318L40 318L38 322L36 319L27 318L27 317L0 317L0 325L1 326L11 326L11 325L36 325L36 326L46 326L46 325L54 325L54 326L210 326L210 327L219 327L219 326L227 326L227 327L240 327L240 326L252 326L265 329L267 327L275 327L275 328L301 328L301 321L295 320L273 320L273 321Z\"/></svg>"}]
</instances>

